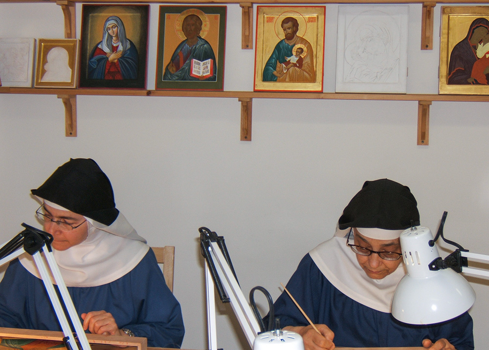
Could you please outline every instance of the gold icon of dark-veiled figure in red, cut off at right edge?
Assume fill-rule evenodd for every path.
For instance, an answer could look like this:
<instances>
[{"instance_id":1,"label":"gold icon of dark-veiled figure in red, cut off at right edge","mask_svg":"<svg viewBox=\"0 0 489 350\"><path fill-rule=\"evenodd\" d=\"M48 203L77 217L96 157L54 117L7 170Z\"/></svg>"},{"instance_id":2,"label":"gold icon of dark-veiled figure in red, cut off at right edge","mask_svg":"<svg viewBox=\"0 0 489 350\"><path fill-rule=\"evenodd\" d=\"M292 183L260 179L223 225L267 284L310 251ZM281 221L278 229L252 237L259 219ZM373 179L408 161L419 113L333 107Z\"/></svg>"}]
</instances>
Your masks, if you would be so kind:
<instances>
[{"instance_id":1,"label":"gold icon of dark-veiled figure in red, cut off at right edge","mask_svg":"<svg viewBox=\"0 0 489 350\"><path fill-rule=\"evenodd\" d=\"M442 6L440 94L489 94L488 33L489 6Z\"/></svg>"}]
</instances>

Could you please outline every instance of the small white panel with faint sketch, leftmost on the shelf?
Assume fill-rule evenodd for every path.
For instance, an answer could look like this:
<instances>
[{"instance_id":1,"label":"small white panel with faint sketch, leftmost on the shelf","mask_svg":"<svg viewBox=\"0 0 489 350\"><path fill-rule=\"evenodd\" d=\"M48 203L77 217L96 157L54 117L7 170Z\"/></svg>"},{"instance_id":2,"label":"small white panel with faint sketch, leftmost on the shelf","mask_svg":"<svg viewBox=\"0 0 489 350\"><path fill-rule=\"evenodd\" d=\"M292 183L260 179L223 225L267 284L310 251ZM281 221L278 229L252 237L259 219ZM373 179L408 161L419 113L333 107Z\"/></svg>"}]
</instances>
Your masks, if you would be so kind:
<instances>
[{"instance_id":1,"label":"small white panel with faint sketch, leftmost on the shelf","mask_svg":"<svg viewBox=\"0 0 489 350\"><path fill-rule=\"evenodd\" d=\"M3 86L32 87L36 40L0 38L0 76Z\"/></svg>"}]
</instances>

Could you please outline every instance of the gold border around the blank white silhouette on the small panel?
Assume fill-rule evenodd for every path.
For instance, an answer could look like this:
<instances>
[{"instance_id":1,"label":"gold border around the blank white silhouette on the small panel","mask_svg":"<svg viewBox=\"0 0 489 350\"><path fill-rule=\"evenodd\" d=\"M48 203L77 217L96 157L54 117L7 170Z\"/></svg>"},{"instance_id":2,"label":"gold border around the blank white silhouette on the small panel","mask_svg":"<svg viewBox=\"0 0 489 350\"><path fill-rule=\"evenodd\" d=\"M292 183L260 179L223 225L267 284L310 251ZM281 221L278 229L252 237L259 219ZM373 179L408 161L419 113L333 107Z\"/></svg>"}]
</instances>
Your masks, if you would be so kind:
<instances>
[{"instance_id":1,"label":"gold border around the blank white silhouette on the small panel","mask_svg":"<svg viewBox=\"0 0 489 350\"><path fill-rule=\"evenodd\" d=\"M46 73L45 65L47 63L47 54L51 49L61 47L68 53L68 66L71 69L70 81L49 81L43 82L42 78ZM36 57L36 77L34 87L63 87L75 88L78 83L78 52L80 41L78 39L39 39L37 41Z\"/></svg>"}]
</instances>

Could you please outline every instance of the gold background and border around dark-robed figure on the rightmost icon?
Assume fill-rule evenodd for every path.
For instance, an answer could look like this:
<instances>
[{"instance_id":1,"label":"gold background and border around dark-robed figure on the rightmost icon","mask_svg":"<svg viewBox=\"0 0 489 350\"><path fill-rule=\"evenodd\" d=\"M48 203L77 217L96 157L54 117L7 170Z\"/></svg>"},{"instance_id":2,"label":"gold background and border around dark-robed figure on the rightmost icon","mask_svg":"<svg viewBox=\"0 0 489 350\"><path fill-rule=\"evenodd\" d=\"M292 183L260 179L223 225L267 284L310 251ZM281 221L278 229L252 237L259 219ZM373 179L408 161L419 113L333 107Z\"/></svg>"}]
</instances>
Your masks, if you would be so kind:
<instances>
[{"instance_id":1,"label":"gold background and border around dark-robed figure on the rightmost icon","mask_svg":"<svg viewBox=\"0 0 489 350\"><path fill-rule=\"evenodd\" d=\"M448 67L453 47L467 36L472 21L489 21L489 6L442 6L440 39L440 94L488 95L489 85L448 84Z\"/></svg>"}]
</instances>

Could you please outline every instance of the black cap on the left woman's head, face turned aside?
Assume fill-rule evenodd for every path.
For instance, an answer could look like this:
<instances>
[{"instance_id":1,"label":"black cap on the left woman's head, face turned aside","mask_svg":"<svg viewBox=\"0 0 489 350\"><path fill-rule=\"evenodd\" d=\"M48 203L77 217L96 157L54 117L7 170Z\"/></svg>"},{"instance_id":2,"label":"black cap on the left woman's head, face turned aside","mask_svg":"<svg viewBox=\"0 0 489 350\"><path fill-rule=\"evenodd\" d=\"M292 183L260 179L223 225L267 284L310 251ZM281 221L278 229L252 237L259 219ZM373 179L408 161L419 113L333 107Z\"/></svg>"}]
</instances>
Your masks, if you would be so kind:
<instances>
[{"instance_id":1,"label":"black cap on the left woman's head, face turned aside","mask_svg":"<svg viewBox=\"0 0 489 350\"><path fill-rule=\"evenodd\" d=\"M70 159L31 193L107 226L119 215L111 182L92 159Z\"/></svg>"}]
</instances>

